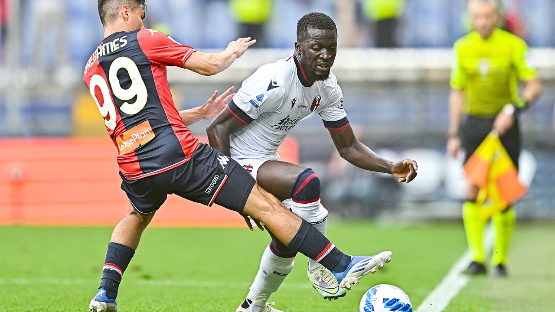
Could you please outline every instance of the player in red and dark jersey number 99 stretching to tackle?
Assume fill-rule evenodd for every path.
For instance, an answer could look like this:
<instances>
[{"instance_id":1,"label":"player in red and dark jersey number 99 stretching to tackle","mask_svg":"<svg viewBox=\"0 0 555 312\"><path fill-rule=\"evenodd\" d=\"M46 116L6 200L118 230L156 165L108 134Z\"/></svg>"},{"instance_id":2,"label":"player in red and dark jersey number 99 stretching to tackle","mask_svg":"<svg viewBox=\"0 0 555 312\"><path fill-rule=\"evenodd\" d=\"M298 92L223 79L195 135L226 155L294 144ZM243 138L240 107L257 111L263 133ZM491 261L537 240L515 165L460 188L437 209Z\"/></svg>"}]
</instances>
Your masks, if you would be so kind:
<instances>
[{"instance_id":1,"label":"player in red and dark jersey number 99 stretching to tackle","mask_svg":"<svg viewBox=\"0 0 555 312\"><path fill-rule=\"evenodd\" d=\"M144 28L145 9L145 0L99 0L104 40L85 66L84 82L117 147L122 189L132 206L112 233L89 311L117 311L115 299L124 271L168 194L205 205L216 203L264 222L281 243L319 261L349 285L388 261L390 252L377 257L342 253L256 185L235 160L189 132L187 124L213 118L223 108L231 88L220 97L215 93L203 107L180 114L169 92L166 66L210 76L228 68L255 41L240 38L222 52L201 53Z\"/></svg>"}]
</instances>

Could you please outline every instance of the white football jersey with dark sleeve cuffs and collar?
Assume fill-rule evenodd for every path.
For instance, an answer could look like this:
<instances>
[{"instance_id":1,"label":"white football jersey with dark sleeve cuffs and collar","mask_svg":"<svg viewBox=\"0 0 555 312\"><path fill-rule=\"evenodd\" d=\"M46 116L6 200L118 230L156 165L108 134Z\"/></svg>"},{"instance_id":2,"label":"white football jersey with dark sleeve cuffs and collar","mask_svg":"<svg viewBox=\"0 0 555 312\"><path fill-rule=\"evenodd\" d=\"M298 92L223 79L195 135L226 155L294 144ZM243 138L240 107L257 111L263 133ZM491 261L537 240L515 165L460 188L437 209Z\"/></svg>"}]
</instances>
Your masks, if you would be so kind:
<instances>
[{"instance_id":1,"label":"white football jersey with dark sleeve cuffs and collar","mask_svg":"<svg viewBox=\"0 0 555 312\"><path fill-rule=\"evenodd\" d=\"M278 147L287 133L315 114L326 128L349 124L334 74L311 85L295 56L259 67L245 79L228 108L247 124L230 136L234 159L278 160Z\"/></svg>"}]
</instances>

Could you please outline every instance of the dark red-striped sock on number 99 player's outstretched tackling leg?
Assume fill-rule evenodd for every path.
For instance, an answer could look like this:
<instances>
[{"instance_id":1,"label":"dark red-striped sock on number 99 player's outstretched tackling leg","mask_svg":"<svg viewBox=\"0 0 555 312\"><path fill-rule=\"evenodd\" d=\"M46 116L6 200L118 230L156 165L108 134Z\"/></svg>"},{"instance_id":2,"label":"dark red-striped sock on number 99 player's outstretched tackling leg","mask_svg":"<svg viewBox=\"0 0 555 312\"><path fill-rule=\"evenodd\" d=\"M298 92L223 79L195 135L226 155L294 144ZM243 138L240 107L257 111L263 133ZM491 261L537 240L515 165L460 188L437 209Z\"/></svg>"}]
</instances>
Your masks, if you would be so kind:
<instances>
[{"instance_id":1,"label":"dark red-striped sock on number 99 player's outstretched tackling leg","mask_svg":"<svg viewBox=\"0 0 555 312\"><path fill-rule=\"evenodd\" d=\"M292 250L298 250L301 254L324 265L330 271L336 268L340 260L345 258L344 256L350 259L350 256L342 253L324 234L320 233L319 230L312 227L305 220L302 220L301 227L297 234L295 234L295 237L287 244L287 247Z\"/></svg>"}]
</instances>

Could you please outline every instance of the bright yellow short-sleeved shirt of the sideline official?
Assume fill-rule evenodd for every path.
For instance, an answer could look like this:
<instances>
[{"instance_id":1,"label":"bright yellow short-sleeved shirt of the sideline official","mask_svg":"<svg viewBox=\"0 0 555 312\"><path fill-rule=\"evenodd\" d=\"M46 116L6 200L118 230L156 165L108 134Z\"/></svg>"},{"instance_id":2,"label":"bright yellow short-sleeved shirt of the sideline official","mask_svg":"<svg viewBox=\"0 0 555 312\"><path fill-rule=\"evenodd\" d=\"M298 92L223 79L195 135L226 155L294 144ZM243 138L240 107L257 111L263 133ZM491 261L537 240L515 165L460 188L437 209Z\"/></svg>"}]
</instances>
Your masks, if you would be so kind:
<instances>
[{"instance_id":1,"label":"bright yellow short-sleeved shirt of the sideline official","mask_svg":"<svg viewBox=\"0 0 555 312\"><path fill-rule=\"evenodd\" d=\"M493 117L507 103L518 106L518 79L537 77L526 43L501 29L486 40L471 32L455 42L453 52L451 88L465 91L463 112L470 115Z\"/></svg>"}]
</instances>

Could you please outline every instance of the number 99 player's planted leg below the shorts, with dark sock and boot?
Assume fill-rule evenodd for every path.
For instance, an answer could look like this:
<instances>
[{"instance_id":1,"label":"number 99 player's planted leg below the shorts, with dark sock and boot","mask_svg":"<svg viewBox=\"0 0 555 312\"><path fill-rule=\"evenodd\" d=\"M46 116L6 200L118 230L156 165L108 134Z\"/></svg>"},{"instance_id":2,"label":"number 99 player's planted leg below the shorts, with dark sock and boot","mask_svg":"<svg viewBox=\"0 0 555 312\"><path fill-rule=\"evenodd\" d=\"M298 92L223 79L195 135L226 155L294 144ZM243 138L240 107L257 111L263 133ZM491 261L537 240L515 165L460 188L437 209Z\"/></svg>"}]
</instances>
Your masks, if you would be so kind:
<instances>
[{"instance_id":1,"label":"number 99 player's planted leg below the shorts, with dark sock and boot","mask_svg":"<svg viewBox=\"0 0 555 312\"><path fill-rule=\"evenodd\" d=\"M140 237L152 217L154 217L154 213L142 215L131 208L127 215L115 226L108 244L102 270L102 280L97 295L90 300L89 311L118 311L115 298L118 294L119 283L135 253L135 249L139 245Z\"/></svg>"}]
</instances>

